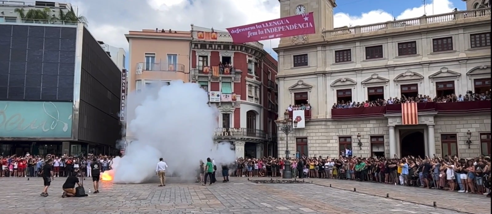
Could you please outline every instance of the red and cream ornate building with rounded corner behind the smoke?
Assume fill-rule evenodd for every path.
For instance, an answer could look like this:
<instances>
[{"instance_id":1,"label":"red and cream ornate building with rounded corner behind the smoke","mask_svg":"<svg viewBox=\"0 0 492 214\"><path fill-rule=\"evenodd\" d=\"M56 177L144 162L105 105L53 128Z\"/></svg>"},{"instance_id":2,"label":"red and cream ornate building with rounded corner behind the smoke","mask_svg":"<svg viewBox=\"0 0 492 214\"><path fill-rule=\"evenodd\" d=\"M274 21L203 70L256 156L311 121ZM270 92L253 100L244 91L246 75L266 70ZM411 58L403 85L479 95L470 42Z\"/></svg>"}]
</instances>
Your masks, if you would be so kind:
<instances>
[{"instance_id":1,"label":"red and cream ornate building with rounded corner behind the smoke","mask_svg":"<svg viewBox=\"0 0 492 214\"><path fill-rule=\"evenodd\" d=\"M236 157L277 151L277 60L259 42L233 44L226 31L191 26L191 81L209 92L219 111L215 141Z\"/></svg>"}]
</instances>

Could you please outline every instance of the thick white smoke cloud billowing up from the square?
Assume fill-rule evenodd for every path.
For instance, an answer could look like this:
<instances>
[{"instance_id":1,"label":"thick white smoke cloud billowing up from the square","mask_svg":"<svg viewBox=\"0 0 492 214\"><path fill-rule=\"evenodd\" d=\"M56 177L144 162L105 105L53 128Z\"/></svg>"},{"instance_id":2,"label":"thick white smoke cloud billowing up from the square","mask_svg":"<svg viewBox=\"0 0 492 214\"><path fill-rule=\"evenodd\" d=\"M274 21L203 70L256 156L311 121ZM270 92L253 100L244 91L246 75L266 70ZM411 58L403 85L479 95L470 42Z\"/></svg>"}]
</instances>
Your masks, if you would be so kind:
<instances>
[{"instance_id":1,"label":"thick white smoke cloud billowing up from the square","mask_svg":"<svg viewBox=\"0 0 492 214\"><path fill-rule=\"evenodd\" d=\"M185 180L196 178L199 160L211 158L216 164L234 161L235 152L229 143L214 143L218 111L209 107L207 92L198 84L177 80L130 96L140 98L127 99L131 119L127 129L137 140L126 147L123 158L110 172L115 183L148 181L155 176L159 158L167 162L168 176Z\"/></svg>"}]
</instances>

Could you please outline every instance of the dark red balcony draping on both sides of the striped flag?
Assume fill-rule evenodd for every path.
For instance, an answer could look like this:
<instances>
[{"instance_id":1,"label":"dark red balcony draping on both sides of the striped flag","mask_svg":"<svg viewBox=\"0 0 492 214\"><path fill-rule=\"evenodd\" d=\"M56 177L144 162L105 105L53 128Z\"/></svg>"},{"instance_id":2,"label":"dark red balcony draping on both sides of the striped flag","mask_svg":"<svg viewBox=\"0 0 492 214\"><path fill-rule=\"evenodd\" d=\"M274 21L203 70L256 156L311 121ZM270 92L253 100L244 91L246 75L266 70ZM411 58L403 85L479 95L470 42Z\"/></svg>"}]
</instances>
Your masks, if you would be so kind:
<instances>
[{"instance_id":1,"label":"dark red balcony draping on both sides of the striped flag","mask_svg":"<svg viewBox=\"0 0 492 214\"><path fill-rule=\"evenodd\" d=\"M491 101L469 101L455 103L417 103L419 112L436 111L438 114L460 114L490 112ZM401 104L380 107L334 108L332 119L382 117L386 113L400 113Z\"/></svg>"}]
</instances>

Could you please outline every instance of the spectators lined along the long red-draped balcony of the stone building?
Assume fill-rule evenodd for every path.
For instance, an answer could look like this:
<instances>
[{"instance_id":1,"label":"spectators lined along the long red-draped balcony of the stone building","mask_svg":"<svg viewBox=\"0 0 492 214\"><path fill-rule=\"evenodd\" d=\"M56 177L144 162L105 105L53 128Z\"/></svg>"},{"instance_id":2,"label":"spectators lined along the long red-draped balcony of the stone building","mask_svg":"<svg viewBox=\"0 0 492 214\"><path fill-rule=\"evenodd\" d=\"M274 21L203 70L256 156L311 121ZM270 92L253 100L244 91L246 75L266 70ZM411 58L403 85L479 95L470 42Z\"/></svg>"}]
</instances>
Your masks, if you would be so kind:
<instances>
[{"instance_id":1,"label":"spectators lined along the long red-draped balcony of the stone building","mask_svg":"<svg viewBox=\"0 0 492 214\"><path fill-rule=\"evenodd\" d=\"M401 103L426 103L426 102L435 102L435 103L450 103L450 102L464 102L464 101L477 101L477 100L491 100L491 93L486 91L486 93L466 93L463 95L446 95L434 97L433 99L428 95L418 95L416 97L406 97L402 95L400 98L389 98L388 100L384 99L376 99L372 101L364 101L364 102L355 102L355 101L339 101L338 103L333 104L332 108L354 108L354 107L377 107L377 106L386 106L391 104L401 104Z\"/></svg>"}]
</instances>

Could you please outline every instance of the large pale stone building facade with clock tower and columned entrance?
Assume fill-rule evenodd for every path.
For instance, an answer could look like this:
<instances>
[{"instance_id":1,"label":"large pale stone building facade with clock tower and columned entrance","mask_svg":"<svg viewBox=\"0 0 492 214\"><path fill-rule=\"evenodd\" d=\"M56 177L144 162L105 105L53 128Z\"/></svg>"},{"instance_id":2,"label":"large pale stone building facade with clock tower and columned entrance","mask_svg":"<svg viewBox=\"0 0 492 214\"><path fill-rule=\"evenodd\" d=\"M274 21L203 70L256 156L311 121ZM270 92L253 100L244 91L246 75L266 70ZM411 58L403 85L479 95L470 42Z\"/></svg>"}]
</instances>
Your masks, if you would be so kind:
<instances>
[{"instance_id":1,"label":"large pale stone building facade with clock tower and columned entrance","mask_svg":"<svg viewBox=\"0 0 492 214\"><path fill-rule=\"evenodd\" d=\"M280 0L282 17L302 6L318 29L276 49L279 115L300 102L312 107L305 128L279 132L279 156L287 148L332 158L345 148L358 157L491 154L490 100L418 104L418 125L402 124L400 105L332 109L341 100L490 92L491 10L472 1L466 11L334 29L334 1Z\"/></svg>"}]
</instances>

